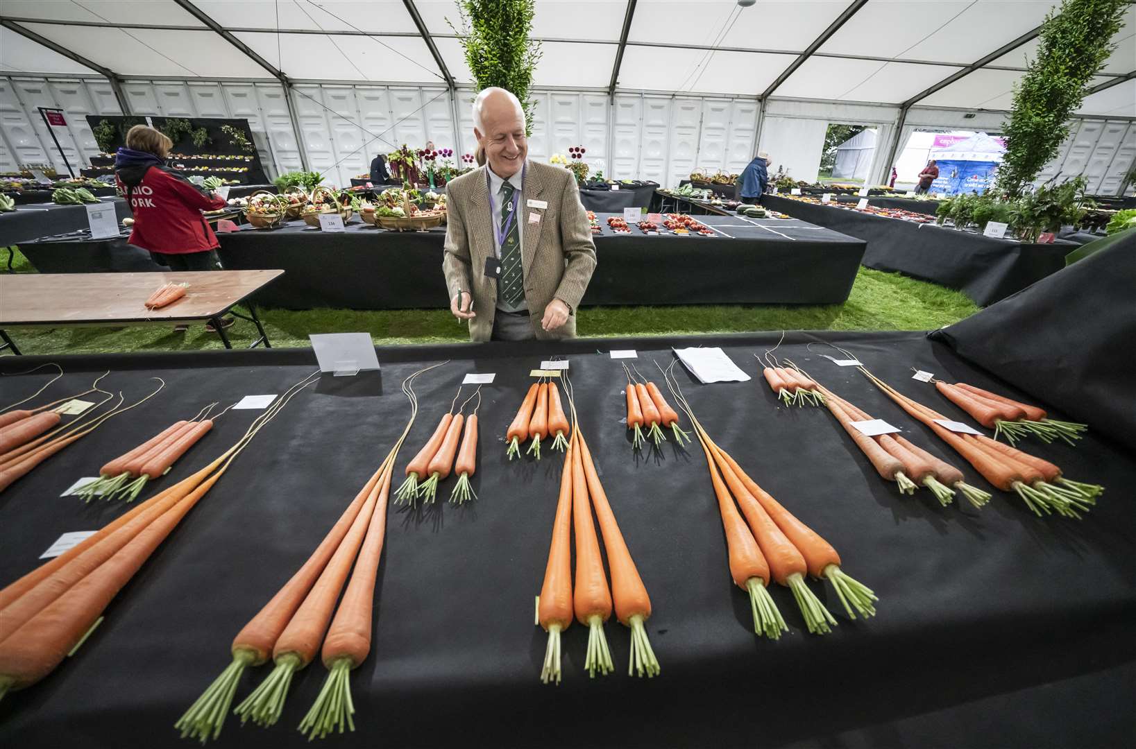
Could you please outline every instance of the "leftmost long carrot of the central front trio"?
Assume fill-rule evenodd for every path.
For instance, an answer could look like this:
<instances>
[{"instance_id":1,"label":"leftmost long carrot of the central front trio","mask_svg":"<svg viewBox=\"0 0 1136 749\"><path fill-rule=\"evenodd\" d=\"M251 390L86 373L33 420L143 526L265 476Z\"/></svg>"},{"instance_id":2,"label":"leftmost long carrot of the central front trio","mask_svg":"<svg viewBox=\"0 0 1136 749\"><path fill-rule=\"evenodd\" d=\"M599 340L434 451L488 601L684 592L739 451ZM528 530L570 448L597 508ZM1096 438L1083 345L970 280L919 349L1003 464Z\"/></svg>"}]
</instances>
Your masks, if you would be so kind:
<instances>
[{"instance_id":1,"label":"leftmost long carrot of the central front trio","mask_svg":"<svg viewBox=\"0 0 1136 749\"><path fill-rule=\"evenodd\" d=\"M541 682L560 683L560 633L571 626L571 514L573 514L573 464L576 440L568 445L565 465L560 471L560 495L557 499L556 521L552 523L552 541L549 544L549 561L544 565L544 582L536 597L536 623L549 633L544 647L544 664Z\"/></svg>"}]
</instances>

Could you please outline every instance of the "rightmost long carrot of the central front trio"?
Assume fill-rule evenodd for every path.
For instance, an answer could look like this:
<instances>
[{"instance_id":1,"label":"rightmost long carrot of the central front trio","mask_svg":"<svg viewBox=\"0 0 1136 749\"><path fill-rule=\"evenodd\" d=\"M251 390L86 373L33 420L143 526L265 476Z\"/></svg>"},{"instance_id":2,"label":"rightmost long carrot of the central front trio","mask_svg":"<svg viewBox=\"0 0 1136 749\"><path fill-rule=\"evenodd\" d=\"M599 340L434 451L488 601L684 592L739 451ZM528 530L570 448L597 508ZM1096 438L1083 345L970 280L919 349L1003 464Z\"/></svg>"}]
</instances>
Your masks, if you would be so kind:
<instances>
[{"instance_id":1,"label":"rightmost long carrot of the central front trio","mask_svg":"<svg viewBox=\"0 0 1136 749\"><path fill-rule=\"evenodd\" d=\"M600 531L603 533L603 549L608 554L608 569L611 571L611 595L616 605L616 618L632 630L632 653L627 664L627 675L637 673L640 676L643 674L649 678L658 676L659 659L651 649L646 628L643 626L643 623L651 618L651 598L646 594L646 586L643 584L638 567L632 559L627 542L624 541L616 515L611 512L608 495L600 483L600 476L595 471L592 453L583 435L577 438L576 444L583 455L584 479L592 504L595 506L595 517L600 521Z\"/></svg>"}]
</instances>

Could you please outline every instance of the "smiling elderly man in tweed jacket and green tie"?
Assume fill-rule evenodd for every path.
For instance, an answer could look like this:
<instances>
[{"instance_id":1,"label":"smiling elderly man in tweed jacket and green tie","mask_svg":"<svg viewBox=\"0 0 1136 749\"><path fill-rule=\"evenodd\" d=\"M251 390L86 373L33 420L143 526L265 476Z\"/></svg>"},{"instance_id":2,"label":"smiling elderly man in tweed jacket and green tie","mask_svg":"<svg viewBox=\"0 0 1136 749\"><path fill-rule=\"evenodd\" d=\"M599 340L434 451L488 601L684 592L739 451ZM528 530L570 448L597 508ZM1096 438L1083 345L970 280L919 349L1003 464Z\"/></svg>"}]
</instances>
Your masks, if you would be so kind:
<instances>
[{"instance_id":1,"label":"smiling elderly man in tweed jacket and green tie","mask_svg":"<svg viewBox=\"0 0 1136 749\"><path fill-rule=\"evenodd\" d=\"M442 271L471 340L570 338L595 269L573 172L526 159L525 112L504 89L474 100L486 163L446 185Z\"/></svg>"}]
</instances>

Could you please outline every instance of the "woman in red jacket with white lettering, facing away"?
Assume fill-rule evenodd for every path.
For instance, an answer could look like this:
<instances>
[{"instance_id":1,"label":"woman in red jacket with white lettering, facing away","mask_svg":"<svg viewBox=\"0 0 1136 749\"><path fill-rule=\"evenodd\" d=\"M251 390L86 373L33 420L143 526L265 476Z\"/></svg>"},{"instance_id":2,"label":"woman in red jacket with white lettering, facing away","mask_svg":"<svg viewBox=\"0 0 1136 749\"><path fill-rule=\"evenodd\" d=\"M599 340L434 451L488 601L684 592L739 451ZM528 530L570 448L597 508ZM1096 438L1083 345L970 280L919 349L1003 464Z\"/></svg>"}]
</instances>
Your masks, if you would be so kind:
<instances>
[{"instance_id":1,"label":"woman in red jacket with white lettering, facing away","mask_svg":"<svg viewBox=\"0 0 1136 749\"><path fill-rule=\"evenodd\" d=\"M115 178L134 214L128 242L170 270L217 270L217 236L201 211L225 208L225 201L166 166L173 145L161 131L135 125L115 154ZM226 328L232 323L225 318Z\"/></svg>"}]
</instances>

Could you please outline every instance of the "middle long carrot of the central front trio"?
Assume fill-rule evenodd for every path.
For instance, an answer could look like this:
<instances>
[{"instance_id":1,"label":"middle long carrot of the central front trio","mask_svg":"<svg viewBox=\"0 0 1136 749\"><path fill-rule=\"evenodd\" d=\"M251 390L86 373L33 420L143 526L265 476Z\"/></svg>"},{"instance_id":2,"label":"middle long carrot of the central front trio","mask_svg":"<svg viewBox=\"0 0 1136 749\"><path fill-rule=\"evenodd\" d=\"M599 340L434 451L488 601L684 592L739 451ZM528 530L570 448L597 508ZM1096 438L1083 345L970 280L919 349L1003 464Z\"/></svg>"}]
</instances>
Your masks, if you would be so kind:
<instances>
[{"instance_id":1,"label":"middle long carrot of the central front trio","mask_svg":"<svg viewBox=\"0 0 1136 749\"><path fill-rule=\"evenodd\" d=\"M579 447L579 424L573 430L573 440ZM582 449L571 456L571 514L576 537L576 584L573 590L573 609L576 621L588 628L587 655L584 667L588 676L595 678L615 671L608 638L603 634L603 623L611 616L611 590L603 573L600 557L600 540L592 522L592 503L587 496L587 480L584 478Z\"/></svg>"}]
</instances>

